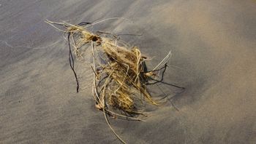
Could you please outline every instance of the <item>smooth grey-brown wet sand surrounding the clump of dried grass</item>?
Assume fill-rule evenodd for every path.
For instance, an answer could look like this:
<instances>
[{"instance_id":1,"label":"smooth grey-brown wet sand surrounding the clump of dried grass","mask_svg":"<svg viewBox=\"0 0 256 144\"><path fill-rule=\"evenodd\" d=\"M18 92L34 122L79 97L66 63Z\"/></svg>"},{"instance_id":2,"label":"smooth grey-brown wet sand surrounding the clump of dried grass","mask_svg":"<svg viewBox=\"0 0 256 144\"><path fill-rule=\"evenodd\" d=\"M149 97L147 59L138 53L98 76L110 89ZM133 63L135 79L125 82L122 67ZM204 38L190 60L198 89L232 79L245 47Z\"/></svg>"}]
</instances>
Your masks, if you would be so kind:
<instances>
[{"instance_id":1,"label":"smooth grey-brown wet sand surrounding the clump of dried grass","mask_svg":"<svg viewBox=\"0 0 256 144\"><path fill-rule=\"evenodd\" d=\"M120 143L94 108L90 69L76 93L67 42L44 23L110 20L156 58L171 49L170 103L146 122L110 120L128 143L256 143L256 1L1 0L0 143ZM80 78L82 79L82 78ZM167 88L165 88L167 89ZM168 90L168 89L167 89ZM169 99L170 99L169 97Z\"/></svg>"}]
</instances>

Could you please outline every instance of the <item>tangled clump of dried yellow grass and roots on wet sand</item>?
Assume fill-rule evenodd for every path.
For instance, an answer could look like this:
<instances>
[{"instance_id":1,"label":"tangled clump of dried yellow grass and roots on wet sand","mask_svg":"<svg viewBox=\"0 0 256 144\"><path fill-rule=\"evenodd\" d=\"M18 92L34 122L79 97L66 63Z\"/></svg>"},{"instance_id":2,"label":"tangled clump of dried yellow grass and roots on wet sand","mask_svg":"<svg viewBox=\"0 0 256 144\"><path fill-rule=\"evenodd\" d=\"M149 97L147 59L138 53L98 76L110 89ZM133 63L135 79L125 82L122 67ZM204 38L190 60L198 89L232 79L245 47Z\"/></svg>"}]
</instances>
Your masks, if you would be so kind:
<instances>
[{"instance_id":1,"label":"tangled clump of dried yellow grass and roots on wet sand","mask_svg":"<svg viewBox=\"0 0 256 144\"><path fill-rule=\"evenodd\" d=\"M104 112L109 126L107 115L114 118L143 121L143 119L135 117L135 115L146 115L141 112L138 105L144 100L152 105L158 105L148 92L147 85L159 82L167 84L163 81L163 76L167 68L167 61L171 56L170 52L156 68L148 71L147 57L141 54L138 47L127 47L115 35L105 37L101 36L105 32L90 32L88 27L95 23L72 25L67 22L55 23L49 20L45 22L59 31L67 33L69 64L75 74L77 92L79 82L75 73L72 53L78 60L83 60L85 49L91 47L91 69L94 75L92 93L96 108ZM59 28L60 26L63 29ZM178 87L173 84L169 85ZM184 89L183 87L178 88ZM110 128L113 130L111 126ZM124 143L124 140L114 130L113 132Z\"/></svg>"}]
</instances>

